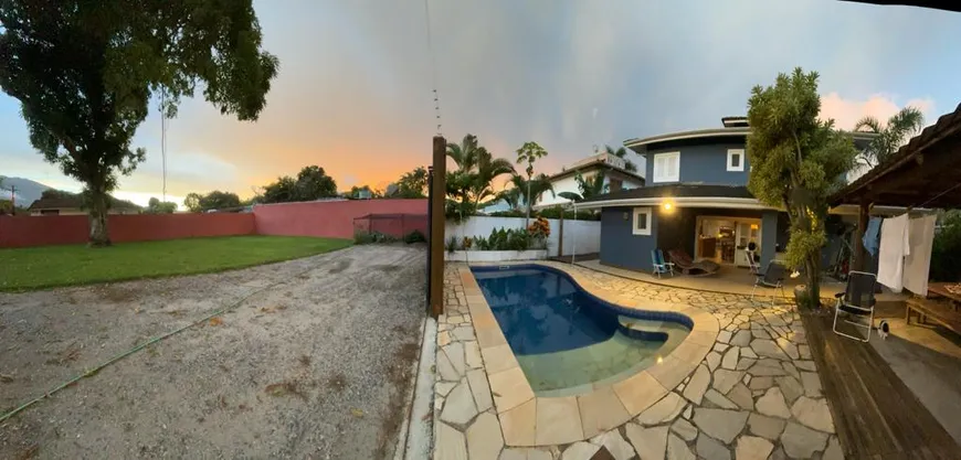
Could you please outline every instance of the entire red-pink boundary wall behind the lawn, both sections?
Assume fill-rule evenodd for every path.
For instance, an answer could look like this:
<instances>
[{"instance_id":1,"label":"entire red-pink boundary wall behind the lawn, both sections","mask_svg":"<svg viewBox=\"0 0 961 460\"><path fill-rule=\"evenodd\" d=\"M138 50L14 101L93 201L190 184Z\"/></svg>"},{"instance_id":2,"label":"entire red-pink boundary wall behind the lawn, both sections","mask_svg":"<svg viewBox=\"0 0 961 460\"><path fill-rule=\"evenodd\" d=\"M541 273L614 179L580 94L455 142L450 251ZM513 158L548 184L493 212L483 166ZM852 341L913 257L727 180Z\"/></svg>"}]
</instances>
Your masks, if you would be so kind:
<instances>
[{"instance_id":1,"label":"entire red-pink boundary wall behind the lawn, both sections","mask_svg":"<svg viewBox=\"0 0 961 460\"><path fill-rule=\"evenodd\" d=\"M416 228L426 235L427 200L278 203L240 214L110 215L108 229L115 243L233 235L353 238L353 220L368 214L406 214L401 226L378 221L377 231L393 234ZM84 244L88 228L85 215L0 216L0 248Z\"/></svg>"}]
</instances>

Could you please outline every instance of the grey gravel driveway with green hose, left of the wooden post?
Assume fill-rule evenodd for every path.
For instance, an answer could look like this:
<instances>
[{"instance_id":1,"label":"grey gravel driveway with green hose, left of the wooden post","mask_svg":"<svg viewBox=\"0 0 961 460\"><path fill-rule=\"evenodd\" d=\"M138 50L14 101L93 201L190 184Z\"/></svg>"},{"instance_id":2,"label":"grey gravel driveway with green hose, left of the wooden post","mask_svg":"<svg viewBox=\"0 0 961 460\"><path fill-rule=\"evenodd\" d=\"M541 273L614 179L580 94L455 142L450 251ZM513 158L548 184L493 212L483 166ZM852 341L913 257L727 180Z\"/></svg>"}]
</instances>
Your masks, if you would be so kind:
<instances>
[{"instance_id":1,"label":"grey gravel driveway with green hose, left of the wooden post","mask_svg":"<svg viewBox=\"0 0 961 460\"><path fill-rule=\"evenodd\" d=\"M425 252L356 246L0 293L2 413L240 301L7 420L0 458L389 458L420 351Z\"/></svg>"}]
</instances>

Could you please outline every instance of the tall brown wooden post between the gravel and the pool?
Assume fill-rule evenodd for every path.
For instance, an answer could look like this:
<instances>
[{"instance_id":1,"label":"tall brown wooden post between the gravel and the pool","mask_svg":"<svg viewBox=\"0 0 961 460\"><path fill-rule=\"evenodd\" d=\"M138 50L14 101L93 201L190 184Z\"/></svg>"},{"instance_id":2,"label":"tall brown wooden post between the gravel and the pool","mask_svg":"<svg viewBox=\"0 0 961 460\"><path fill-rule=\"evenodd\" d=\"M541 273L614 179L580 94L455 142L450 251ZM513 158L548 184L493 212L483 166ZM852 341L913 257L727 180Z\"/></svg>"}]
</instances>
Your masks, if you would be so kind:
<instances>
[{"instance_id":1,"label":"tall brown wooden post between the gravel and the pool","mask_svg":"<svg viewBox=\"0 0 961 460\"><path fill-rule=\"evenodd\" d=\"M434 175L431 181L431 315L444 314L444 203L447 195L447 142L434 136Z\"/></svg>"}]
</instances>

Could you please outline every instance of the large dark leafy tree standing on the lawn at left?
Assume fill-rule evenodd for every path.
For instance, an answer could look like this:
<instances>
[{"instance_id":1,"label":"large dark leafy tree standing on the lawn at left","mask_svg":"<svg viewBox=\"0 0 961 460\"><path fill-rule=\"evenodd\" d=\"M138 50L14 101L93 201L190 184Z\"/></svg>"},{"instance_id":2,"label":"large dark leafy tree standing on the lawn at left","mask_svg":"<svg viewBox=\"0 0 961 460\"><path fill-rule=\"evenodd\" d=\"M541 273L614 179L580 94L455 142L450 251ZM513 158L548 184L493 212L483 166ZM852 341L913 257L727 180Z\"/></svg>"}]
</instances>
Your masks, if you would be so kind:
<instances>
[{"instance_id":1,"label":"large dark leafy tree standing on the lawn at left","mask_svg":"<svg viewBox=\"0 0 961 460\"><path fill-rule=\"evenodd\" d=\"M200 84L256 120L277 74L252 0L0 0L0 87L33 147L84 183L92 246L110 244L107 193L146 157L130 143L151 97L175 116Z\"/></svg>"}]
</instances>

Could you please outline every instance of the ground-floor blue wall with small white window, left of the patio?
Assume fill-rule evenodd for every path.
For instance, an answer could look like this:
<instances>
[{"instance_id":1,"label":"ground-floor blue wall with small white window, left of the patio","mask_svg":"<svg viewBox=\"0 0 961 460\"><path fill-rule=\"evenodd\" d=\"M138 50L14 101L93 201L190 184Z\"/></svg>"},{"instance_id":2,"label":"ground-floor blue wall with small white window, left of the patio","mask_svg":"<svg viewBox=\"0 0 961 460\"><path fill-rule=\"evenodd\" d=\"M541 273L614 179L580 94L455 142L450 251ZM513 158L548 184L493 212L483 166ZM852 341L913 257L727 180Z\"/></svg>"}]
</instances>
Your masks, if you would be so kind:
<instances>
[{"instance_id":1,"label":"ground-floor blue wall with small white window, left of the patio","mask_svg":"<svg viewBox=\"0 0 961 460\"><path fill-rule=\"evenodd\" d=\"M658 226L656 208L652 211L651 235L634 235L633 207L601 210L600 257L604 265L651 271L651 250L657 248Z\"/></svg>"}]
</instances>

